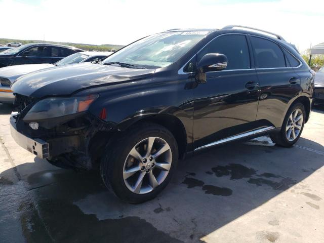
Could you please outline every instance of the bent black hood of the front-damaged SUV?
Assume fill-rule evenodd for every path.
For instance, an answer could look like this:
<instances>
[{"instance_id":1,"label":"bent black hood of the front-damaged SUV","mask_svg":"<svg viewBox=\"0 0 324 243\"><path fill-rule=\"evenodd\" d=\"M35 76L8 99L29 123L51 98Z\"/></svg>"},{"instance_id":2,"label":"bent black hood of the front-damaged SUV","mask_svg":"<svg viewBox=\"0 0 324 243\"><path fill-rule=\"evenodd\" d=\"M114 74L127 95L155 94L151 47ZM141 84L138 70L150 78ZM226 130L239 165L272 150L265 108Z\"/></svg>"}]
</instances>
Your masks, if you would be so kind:
<instances>
[{"instance_id":1,"label":"bent black hood of the front-damaged SUV","mask_svg":"<svg viewBox=\"0 0 324 243\"><path fill-rule=\"evenodd\" d=\"M77 90L144 78L154 69L133 69L94 63L79 63L36 71L18 78L14 93L29 97L70 95Z\"/></svg>"}]
</instances>

